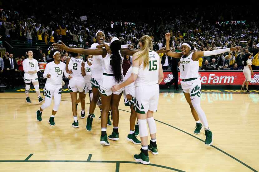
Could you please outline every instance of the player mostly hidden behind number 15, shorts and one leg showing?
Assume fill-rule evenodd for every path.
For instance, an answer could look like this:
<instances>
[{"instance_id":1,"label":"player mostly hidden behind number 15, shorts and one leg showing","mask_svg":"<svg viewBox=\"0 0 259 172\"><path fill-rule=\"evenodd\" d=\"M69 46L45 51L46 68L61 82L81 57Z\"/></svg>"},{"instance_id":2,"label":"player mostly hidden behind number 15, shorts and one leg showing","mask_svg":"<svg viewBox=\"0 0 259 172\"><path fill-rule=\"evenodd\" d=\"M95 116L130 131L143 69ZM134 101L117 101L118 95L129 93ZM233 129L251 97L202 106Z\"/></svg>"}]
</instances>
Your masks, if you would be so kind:
<instances>
[{"instance_id":1,"label":"player mostly hidden behind number 15, shorts and one leg showing","mask_svg":"<svg viewBox=\"0 0 259 172\"><path fill-rule=\"evenodd\" d=\"M124 76L124 80L127 80L132 71L132 66L128 69L127 73ZM130 133L127 136L127 140L134 144L141 144L141 142L137 139L137 135L139 134L137 129L139 129L139 124L135 125L137 114L134 110L134 101L135 101L135 82L132 82L130 85L125 86L125 90L123 91L124 96L124 104L125 106L130 106ZM134 128L135 127L135 128ZM136 133L138 132L138 133Z\"/></svg>"}]
</instances>

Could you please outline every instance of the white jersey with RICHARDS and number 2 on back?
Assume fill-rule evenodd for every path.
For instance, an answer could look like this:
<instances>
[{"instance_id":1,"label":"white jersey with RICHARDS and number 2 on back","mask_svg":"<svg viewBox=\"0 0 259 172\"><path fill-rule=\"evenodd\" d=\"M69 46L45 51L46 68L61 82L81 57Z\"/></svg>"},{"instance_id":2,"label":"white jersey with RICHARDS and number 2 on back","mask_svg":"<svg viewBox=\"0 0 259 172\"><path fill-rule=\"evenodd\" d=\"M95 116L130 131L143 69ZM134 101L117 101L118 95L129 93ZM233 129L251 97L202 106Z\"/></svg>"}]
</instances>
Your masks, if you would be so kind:
<instances>
[{"instance_id":1,"label":"white jersey with RICHARDS and number 2 on back","mask_svg":"<svg viewBox=\"0 0 259 172\"><path fill-rule=\"evenodd\" d=\"M73 58L71 57L69 63L68 63L68 70L72 70L72 79L73 78L80 78L80 77L83 77L82 76L82 71L81 71L81 68L82 68L82 62L83 60L81 59L77 59L77 58Z\"/></svg>"}]
</instances>

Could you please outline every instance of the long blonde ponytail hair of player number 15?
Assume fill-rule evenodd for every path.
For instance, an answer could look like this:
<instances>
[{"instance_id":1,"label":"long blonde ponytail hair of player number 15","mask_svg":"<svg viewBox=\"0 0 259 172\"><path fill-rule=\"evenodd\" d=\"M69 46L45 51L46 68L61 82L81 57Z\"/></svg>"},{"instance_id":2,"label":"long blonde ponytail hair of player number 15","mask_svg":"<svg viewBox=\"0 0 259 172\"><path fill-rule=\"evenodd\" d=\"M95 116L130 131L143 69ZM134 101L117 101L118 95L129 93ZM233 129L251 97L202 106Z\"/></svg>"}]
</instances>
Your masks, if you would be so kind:
<instances>
[{"instance_id":1,"label":"long blonde ponytail hair of player number 15","mask_svg":"<svg viewBox=\"0 0 259 172\"><path fill-rule=\"evenodd\" d=\"M149 64L149 49L153 50L153 44L152 39L149 35L144 35L140 38L139 43L142 44L142 49L135 53L134 56L137 56L137 59L142 58L143 59L143 66L144 68L148 66Z\"/></svg>"}]
</instances>

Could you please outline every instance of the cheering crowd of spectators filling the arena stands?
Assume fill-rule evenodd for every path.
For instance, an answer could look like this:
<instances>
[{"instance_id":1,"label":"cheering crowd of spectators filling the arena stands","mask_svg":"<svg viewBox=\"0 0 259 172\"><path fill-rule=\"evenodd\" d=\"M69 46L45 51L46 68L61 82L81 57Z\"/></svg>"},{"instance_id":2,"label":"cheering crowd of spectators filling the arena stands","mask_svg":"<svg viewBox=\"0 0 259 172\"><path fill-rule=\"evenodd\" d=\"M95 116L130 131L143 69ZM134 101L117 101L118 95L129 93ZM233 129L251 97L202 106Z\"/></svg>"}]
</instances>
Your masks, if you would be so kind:
<instances>
[{"instance_id":1,"label":"cheering crowd of spectators filling the arena stands","mask_svg":"<svg viewBox=\"0 0 259 172\"><path fill-rule=\"evenodd\" d=\"M27 8L20 9L21 5ZM0 30L4 33L2 36L26 41L28 47L32 47L34 42L51 45L63 41L69 46L85 49L96 41L95 33L98 30L104 31L106 40L116 36L123 44L132 44L134 49L139 49L141 36L150 35L154 50L165 47L164 34L169 32L172 35L170 49L175 52L181 52L181 44L185 41L193 44L194 51L240 46L239 52L200 58L200 69L242 69L242 58L247 52L253 54L253 69L259 69L258 10L247 9L244 5L233 8L220 4L204 8L189 6L184 10L182 6L174 6L142 8L140 11L134 6L100 7L94 4L85 7L66 0L58 6L50 5L48 1L39 5L36 2L11 0L8 6L0 9ZM49 58L50 50L42 53L37 48L34 58L44 62ZM9 58L9 53L0 60L1 63ZM62 61L71 55L64 52ZM76 55L85 59L84 55ZM170 57L159 55L163 68L170 67ZM17 70L22 71L22 60L27 54L13 56Z\"/></svg>"}]
</instances>

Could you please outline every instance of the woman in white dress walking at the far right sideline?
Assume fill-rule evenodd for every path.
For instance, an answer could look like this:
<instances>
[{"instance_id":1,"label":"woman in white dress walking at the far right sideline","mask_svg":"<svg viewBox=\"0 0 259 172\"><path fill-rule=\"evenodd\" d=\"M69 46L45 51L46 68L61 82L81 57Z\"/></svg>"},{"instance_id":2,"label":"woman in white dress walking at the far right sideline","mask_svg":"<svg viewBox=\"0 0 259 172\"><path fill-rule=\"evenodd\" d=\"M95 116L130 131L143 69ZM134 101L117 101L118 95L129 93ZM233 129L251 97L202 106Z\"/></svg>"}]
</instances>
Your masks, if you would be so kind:
<instances>
[{"instance_id":1,"label":"woman in white dress walking at the far right sideline","mask_svg":"<svg viewBox=\"0 0 259 172\"><path fill-rule=\"evenodd\" d=\"M249 92L249 90L248 90L249 82L252 80L251 74L254 75L254 72L253 72L252 67L251 67L251 65L252 65L252 61L250 60L251 57L252 57L251 53L247 53L245 55L244 62L243 62L244 63L243 72L244 72L244 75L245 75L246 79L241 86L241 90L245 90L247 92ZM246 84L246 88L244 88L245 84Z\"/></svg>"}]
</instances>

